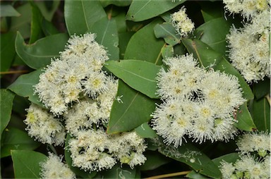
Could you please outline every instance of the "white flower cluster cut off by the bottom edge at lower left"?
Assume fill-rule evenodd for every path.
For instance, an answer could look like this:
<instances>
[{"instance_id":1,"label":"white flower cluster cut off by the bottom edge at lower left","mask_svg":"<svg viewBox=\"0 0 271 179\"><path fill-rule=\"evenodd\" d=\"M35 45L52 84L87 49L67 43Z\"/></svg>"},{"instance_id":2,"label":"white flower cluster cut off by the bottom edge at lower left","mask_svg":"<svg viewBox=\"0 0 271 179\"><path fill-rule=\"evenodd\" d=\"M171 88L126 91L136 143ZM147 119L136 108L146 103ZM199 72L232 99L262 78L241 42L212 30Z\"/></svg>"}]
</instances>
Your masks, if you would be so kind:
<instances>
[{"instance_id":1,"label":"white flower cluster cut off by the bottom edge at lower left","mask_svg":"<svg viewBox=\"0 0 271 179\"><path fill-rule=\"evenodd\" d=\"M49 153L46 161L40 163L42 172L40 176L44 179L47 178L76 178L76 174L68 168L67 164L61 162L61 157Z\"/></svg>"}]
</instances>

